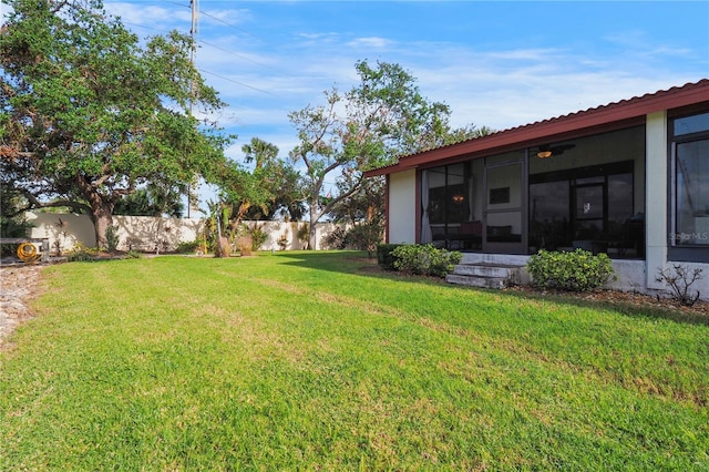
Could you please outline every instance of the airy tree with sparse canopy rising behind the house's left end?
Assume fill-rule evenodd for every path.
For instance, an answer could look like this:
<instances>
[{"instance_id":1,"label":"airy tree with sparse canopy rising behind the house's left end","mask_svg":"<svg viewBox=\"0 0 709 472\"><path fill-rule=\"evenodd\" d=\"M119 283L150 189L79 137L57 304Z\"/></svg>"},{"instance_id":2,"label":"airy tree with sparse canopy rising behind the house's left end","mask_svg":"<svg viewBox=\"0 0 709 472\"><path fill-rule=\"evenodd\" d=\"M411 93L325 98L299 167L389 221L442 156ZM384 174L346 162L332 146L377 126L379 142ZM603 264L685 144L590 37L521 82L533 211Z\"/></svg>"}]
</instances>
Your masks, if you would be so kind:
<instances>
[{"instance_id":1,"label":"airy tree with sparse canopy rising behind the house's left end","mask_svg":"<svg viewBox=\"0 0 709 472\"><path fill-rule=\"evenodd\" d=\"M306 167L310 247L315 247L315 224L326 214L338 219L374 216L374 205L383 201L383 185L363 186L364 171L475 133L472 125L452 130L450 107L425 99L415 78L399 64L359 61L354 68L360 83L352 90L326 91L325 105L289 114L300 141L290 156ZM322 195L326 178L336 181L335 197ZM367 207L357 208L362 204Z\"/></svg>"}]
</instances>

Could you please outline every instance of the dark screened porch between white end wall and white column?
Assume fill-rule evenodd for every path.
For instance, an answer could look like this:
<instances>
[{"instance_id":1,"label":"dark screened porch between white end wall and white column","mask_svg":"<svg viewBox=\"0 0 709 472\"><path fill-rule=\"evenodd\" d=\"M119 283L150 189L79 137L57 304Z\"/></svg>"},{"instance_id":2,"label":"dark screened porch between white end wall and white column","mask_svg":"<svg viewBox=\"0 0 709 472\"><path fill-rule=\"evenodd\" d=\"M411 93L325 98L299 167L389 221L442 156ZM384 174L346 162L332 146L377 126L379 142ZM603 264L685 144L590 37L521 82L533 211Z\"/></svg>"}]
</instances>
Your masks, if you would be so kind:
<instances>
[{"instance_id":1,"label":"dark screened porch between white end wall and white column","mask_svg":"<svg viewBox=\"0 0 709 472\"><path fill-rule=\"evenodd\" d=\"M464 252L643 257L643 126L421 170L421 242Z\"/></svg>"}]
</instances>

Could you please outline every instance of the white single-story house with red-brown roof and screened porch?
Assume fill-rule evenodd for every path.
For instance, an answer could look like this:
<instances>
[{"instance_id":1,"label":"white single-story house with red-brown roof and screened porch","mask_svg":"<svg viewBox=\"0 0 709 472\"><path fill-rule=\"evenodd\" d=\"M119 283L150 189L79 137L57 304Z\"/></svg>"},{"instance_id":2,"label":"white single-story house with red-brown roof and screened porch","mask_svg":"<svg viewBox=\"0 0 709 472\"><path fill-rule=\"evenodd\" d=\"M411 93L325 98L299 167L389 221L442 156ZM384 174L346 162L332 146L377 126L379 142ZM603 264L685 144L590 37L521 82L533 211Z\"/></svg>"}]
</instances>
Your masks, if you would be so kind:
<instances>
[{"instance_id":1,"label":"white single-story house with red-brown roof and screened porch","mask_svg":"<svg viewBox=\"0 0 709 472\"><path fill-rule=\"evenodd\" d=\"M702 268L709 298L709 80L403 156L387 179L387 242L524 265L538 249L606 253L615 288Z\"/></svg>"}]
</instances>

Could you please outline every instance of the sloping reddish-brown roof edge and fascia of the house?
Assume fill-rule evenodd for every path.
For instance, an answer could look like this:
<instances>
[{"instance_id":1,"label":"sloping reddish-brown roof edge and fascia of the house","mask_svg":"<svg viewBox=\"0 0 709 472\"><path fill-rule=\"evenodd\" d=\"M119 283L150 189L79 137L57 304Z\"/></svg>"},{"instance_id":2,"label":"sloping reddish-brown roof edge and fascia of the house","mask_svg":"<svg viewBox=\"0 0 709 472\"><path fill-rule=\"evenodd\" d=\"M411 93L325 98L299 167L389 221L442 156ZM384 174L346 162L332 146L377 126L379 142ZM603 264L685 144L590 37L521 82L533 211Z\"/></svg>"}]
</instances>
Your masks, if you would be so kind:
<instances>
[{"instance_id":1,"label":"sloping reddish-brown roof edge and fascia of the house","mask_svg":"<svg viewBox=\"0 0 709 472\"><path fill-rule=\"evenodd\" d=\"M540 144L543 141L561 141L569 135L577 137L638 125L645 122L645 116L649 113L701 102L709 102L709 79L411 154L401 157L397 164L369 171L364 175L373 177L392 174L463 155L490 155L504 150Z\"/></svg>"}]
</instances>

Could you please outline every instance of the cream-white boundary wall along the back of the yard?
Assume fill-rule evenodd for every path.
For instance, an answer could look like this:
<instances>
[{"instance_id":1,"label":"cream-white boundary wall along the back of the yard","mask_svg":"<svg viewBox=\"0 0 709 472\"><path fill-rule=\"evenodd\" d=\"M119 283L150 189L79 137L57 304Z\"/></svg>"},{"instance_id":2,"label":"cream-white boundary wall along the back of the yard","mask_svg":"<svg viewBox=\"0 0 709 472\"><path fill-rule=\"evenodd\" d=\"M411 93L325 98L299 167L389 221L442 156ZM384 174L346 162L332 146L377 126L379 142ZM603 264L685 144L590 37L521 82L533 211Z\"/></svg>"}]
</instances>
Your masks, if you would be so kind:
<instances>
[{"instance_id":1,"label":"cream-white boundary wall along the back of the yard","mask_svg":"<svg viewBox=\"0 0 709 472\"><path fill-rule=\"evenodd\" d=\"M27 213L32 224L29 237L49 238L52 254L65 253L78 244L96 246L94 226L89 215ZM244 222L253 227L257 225L267 234L260 250L302 249L298 232L306 226L302 222ZM160 252L175 250L179 243L197 239L203 230L204 220L196 218L157 218L152 216L113 216L113 226L117 228L120 250ZM325 238L337 227L332 223L316 225L315 249L327 249Z\"/></svg>"}]
</instances>

